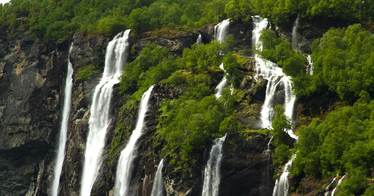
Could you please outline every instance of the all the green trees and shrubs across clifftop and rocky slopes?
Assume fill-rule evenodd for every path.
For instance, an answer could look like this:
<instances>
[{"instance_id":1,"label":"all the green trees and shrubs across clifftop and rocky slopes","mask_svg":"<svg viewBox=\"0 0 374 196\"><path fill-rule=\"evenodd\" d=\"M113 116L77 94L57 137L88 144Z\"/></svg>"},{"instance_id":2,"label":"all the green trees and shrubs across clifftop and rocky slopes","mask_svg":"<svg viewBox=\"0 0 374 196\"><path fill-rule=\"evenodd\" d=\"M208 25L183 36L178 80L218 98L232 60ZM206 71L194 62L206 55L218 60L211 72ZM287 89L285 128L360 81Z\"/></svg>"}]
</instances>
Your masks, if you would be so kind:
<instances>
[{"instance_id":1,"label":"all the green trees and shrubs across clifftop and rocky slopes","mask_svg":"<svg viewBox=\"0 0 374 196\"><path fill-rule=\"evenodd\" d=\"M196 33L205 25L218 24L228 18L249 23L254 15L269 18L276 25L290 23L290 19L297 16L354 23L331 28L313 41L312 54L309 54L313 60L313 74L306 72L306 54L293 49L274 29L261 30L258 43L252 48L258 57L276 63L284 73L282 77L290 78L297 99L310 99L328 92L336 95L342 105L329 111L324 119L315 116L309 125L298 127L294 131L298 140L293 143L295 140L290 139L287 131L296 126L285 115L282 105L275 106L271 126L261 130L236 119L239 114L255 119L258 112L254 108L258 103L252 103L252 97L245 97L245 91L239 90L244 77L240 67L248 61L233 50L233 35L227 35L222 43L214 40L194 43L184 49L180 57L171 55L166 47L149 42L126 64L119 77L119 94L124 95L126 103L120 107L121 118L110 143L108 165L115 162L120 153L118 147L133 129L123 122L137 115L142 95L158 84L160 88L183 88L178 96L160 101L156 132L151 137L159 147L159 151L153 153L157 158L171 159L169 165L175 171L189 172L188 169L197 164L200 152L215 138L238 133L240 138L249 140L252 136L247 134L257 132L272 138L269 144L275 148L273 180L277 180L283 165L294 157L289 169L293 176L331 178L349 174L336 195L373 196L370 172L374 167L374 35L362 23L373 24L374 2L10 0L0 4L2 27L26 29L27 34L44 41L64 40L76 32L113 37L125 29L131 29L132 35L161 29ZM221 63L224 70L220 68ZM98 67L99 63L79 68L77 80L90 80L99 73ZM222 78L227 79L231 89L223 89L222 96L217 98L215 88ZM290 191L300 192L297 189L292 187Z\"/></svg>"}]
</instances>

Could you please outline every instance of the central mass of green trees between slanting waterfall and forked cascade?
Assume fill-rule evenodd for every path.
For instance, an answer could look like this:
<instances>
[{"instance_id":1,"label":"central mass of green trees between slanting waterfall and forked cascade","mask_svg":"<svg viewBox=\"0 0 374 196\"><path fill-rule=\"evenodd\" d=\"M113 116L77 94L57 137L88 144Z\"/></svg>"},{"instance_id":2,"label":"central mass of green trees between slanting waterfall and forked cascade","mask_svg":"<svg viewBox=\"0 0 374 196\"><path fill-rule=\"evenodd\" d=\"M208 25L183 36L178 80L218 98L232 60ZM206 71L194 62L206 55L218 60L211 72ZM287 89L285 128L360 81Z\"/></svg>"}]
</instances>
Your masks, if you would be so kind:
<instances>
[{"instance_id":1,"label":"central mass of green trees between slanting waterfall and forked cascade","mask_svg":"<svg viewBox=\"0 0 374 196\"><path fill-rule=\"evenodd\" d=\"M179 156L178 164L192 165L199 150L209 145L212 138L241 130L242 125L233 117L236 93L232 95L227 88L220 99L214 96L215 77L221 62L226 63L229 83L239 81L239 57L229 52L233 41L232 35L228 35L224 43L194 44L191 49L184 49L182 58L174 58L168 49L148 43L140 55L125 66L119 88L132 95L122 107L123 114L132 115L142 93L153 84L183 92L160 103L155 137L166 141L161 156ZM126 118L124 116L123 120ZM118 141L126 135L122 132L130 129L122 125L121 121L116 129L119 137L113 140L113 153Z\"/></svg>"}]
</instances>

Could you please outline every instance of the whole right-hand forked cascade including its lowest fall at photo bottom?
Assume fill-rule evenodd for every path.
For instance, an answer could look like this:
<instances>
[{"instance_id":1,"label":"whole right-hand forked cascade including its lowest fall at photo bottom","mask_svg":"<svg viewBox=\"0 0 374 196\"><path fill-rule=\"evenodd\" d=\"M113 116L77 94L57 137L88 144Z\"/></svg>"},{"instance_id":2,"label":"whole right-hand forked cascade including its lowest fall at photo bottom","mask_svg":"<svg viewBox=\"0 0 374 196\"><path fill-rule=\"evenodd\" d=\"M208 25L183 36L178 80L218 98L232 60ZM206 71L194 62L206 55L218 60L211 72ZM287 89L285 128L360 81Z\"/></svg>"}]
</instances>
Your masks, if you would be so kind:
<instances>
[{"instance_id":1,"label":"whole right-hand forked cascade including its lowest fall at photo bottom","mask_svg":"<svg viewBox=\"0 0 374 196\"><path fill-rule=\"evenodd\" d=\"M252 43L258 44L260 31L262 29L266 29L269 21L266 18L260 18L258 16L253 16L252 19L254 25L252 31ZM266 97L263 108L261 109L261 121L264 128L271 128L271 124L275 115L275 106L278 104L283 105L283 107L285 108L285 115L292 119L295 96L291 88L291 77L284 75L282 68L280 68L276 63L261 59L257 55L255 55L255 60L255 78L257 80L259 80L260 78L268 80L266 87ZM298 139L298 137L295 136L292 130L287 130L287 133L295 140ZM291 167L294 158L295 157L293 156L292 159L287 162L282 170L281 177L279 178L279 180L276 180L273 190L273 196L288 195L288 168Z\"/></svg>"}]
</instances>

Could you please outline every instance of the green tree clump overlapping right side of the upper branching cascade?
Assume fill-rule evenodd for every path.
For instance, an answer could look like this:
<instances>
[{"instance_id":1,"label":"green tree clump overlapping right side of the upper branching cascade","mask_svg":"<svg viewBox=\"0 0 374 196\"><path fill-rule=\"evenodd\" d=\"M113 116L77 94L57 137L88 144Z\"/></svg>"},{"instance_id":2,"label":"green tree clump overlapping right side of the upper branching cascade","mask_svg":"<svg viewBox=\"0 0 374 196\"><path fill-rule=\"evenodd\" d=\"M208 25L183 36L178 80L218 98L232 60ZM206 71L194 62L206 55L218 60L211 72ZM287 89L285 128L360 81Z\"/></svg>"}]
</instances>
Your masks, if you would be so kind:
<instances>
[{"instance_id":1,"label":"green tree clump overlapping right side of the upper branching cascade","mask_svg":"<svg viewBox=\"0 0 374 196\"><path fill-rule=\"evenodd\" d=\"M283 73L290 76L303 73L308 64L301 52L292 50L291 43L277 38L275 31L270 29L261 30L255 53L263 59L277 63L282 67Z\"/></svg>"}]
</instances>

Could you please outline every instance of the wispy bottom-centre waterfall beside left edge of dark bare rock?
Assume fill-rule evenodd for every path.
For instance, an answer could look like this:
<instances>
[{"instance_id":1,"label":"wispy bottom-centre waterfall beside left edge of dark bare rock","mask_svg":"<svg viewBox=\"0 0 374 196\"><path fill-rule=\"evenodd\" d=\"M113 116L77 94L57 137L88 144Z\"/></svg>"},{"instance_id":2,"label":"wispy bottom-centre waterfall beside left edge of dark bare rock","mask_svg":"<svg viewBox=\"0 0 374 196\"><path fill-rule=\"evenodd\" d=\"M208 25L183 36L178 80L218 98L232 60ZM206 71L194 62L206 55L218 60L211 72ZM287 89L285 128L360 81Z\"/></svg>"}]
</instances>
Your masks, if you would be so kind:
<instances>
[{"instance_id":1,"label":"wispy bottom-centre waterfall beside left edge of dark bare rock","mask_svg":"<svg viewBox=\"0 0 374 196\"><path fill-rule=\"evenodd\" d=\"M222 146L225 139L226 135L215 139L213 142L209 159L205 166L202 196L218 196L221 180L220 166L222 161Z\"/></svg>"}]
</instances>

